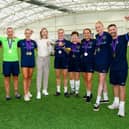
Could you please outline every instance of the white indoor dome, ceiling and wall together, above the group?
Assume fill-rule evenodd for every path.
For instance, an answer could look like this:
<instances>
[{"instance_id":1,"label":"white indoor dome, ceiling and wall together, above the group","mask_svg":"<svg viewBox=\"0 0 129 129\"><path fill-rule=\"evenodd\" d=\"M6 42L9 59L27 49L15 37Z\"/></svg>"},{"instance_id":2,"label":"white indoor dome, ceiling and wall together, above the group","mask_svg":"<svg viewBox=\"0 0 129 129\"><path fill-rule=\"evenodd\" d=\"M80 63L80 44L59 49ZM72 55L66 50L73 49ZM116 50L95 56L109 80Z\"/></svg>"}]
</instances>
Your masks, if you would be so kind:
<instances>
[{"instance_id":1,"label":"white indoor dome, ceiling and wall together, above the group","mask_svg":"<svg viewBox=\"0 0 129 129\"><path fill-rule=\"evenodd\" d=\"M25 28L33 28L34 37L40 28L47 27L49 36L56 37L58 28L64 28L66 34L89 27L95 31L97 20L104 22L105 28L116 23L120 33L129 28L125 16L128 16L128 0L1 0L0 31L12 26L17 35Z\"/></svg>"}]
</instances>

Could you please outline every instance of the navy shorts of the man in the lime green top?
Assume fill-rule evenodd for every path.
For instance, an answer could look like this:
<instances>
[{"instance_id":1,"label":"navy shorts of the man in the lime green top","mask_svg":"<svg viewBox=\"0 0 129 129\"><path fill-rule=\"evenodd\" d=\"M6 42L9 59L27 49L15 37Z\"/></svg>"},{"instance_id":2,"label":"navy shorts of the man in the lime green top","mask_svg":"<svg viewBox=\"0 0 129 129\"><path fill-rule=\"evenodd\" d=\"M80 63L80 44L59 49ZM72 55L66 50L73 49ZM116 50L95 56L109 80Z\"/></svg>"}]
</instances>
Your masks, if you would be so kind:
<instances>
[{"instance_id":1,"label":"navy shorts of the man in the lime green top","mask_svg":"<svg viewBox=\"0 0 129 129\"><path fill-rule=\"evenodd\" d=\"M4 76L18 76L19 74L19 62L3 62L3 74Z\"/></svg>"}]
</instances>

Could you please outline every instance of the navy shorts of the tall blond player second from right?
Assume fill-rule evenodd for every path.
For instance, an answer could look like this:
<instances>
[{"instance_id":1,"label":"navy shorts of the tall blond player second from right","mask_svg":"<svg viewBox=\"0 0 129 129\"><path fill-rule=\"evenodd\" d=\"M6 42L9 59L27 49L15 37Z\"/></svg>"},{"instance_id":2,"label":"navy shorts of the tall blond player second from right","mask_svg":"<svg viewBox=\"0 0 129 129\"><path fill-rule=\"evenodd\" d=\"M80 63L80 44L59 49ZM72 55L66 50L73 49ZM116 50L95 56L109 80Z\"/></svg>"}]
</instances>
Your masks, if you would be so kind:
<instances>
[{"instance_id":1,"label":"navy shorts of the tall blond player second from right","mask_svg":"<svg viewBox=\"0 0 129 129\"><path fill-rule=\"evenodd\" d=\"M95 65L95 71L99 73L108 73L109 65Z\"/></svg>"}]
</instances>

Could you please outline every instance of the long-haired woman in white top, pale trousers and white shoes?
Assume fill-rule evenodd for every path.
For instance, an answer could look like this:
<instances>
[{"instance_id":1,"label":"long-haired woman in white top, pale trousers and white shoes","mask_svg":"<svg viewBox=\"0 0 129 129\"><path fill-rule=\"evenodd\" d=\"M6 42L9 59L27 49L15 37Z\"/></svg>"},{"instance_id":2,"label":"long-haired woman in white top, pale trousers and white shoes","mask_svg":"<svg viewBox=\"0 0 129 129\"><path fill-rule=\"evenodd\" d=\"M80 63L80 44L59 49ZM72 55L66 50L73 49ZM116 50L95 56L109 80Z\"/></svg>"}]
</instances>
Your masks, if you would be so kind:
<instances>
[{"instance_id":1,"label":"long-haired woman in white top, pale trousers and white shoes","mask_svg":"<svg viewBox=\"0 0 129 129\"><path fill-rule=\"evenodd\" d=\"M50 63L50 40L48 39L48 30L42 28L40 31L40 40L37 41L37 99L41 99L41 90L43 95L48 95L48 76ZM42 88L43 79L43 88Z\"/></svg>"}]
</instances>

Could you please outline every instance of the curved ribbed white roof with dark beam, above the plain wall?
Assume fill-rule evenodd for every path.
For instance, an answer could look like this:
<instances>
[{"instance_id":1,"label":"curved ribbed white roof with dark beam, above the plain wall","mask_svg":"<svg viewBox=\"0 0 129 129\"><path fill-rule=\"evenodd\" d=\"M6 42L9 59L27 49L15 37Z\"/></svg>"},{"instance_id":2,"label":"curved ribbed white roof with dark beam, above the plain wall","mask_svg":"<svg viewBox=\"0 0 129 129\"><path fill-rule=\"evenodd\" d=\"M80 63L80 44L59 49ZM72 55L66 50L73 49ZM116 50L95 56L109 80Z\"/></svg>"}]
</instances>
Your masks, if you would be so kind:
<instances>
[{"instance_id":1,"label":"curved ribbed white roof with dark beam, above the plain wall","mask_svg":"<svg viewBox=\"0 0 129 129\"><path fill-rule=\"evenodd\" d=\"M129 9L129 0L0 0L0 28L68 13L117 9Z\"/></svg>"}]
</instances>

